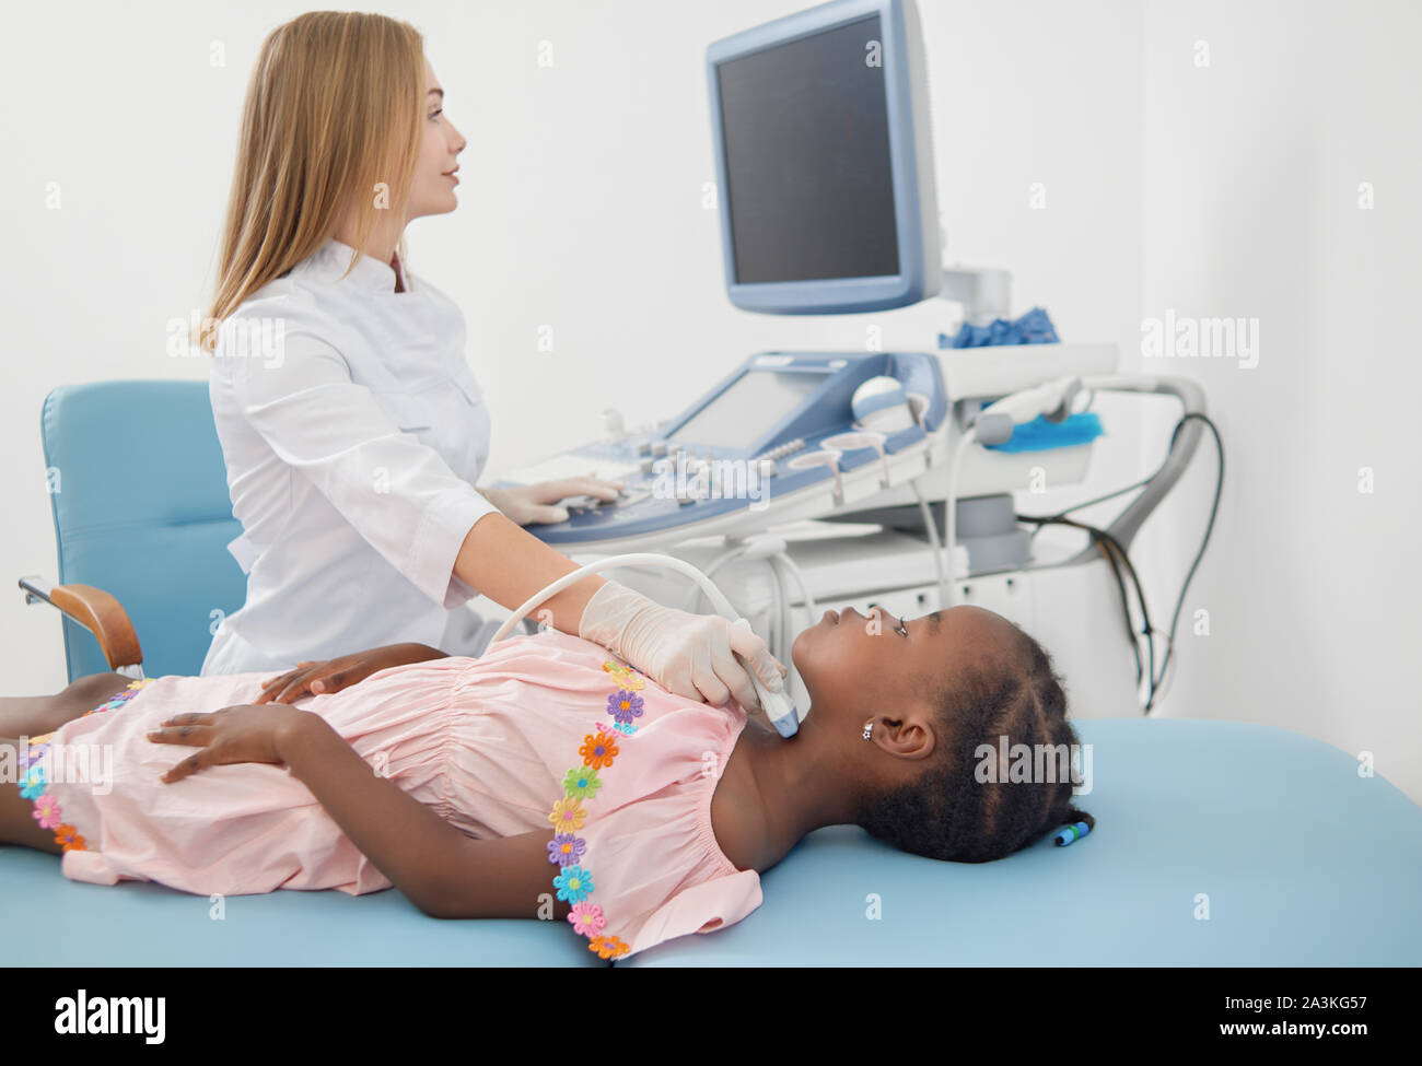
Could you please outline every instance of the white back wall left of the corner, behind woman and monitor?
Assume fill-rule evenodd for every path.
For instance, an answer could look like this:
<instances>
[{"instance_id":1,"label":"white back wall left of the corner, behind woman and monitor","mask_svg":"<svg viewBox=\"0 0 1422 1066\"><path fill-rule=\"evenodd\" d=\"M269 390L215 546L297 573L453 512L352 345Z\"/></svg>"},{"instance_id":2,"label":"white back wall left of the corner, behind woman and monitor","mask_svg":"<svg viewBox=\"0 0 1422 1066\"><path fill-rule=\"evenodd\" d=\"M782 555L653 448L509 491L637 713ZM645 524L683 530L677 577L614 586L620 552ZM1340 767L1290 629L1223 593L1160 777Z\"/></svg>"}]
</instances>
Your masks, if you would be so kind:
<instances>
[{"instance_id":1,"label":"white back wall left of the corner, behind woman and monitor","mask_svg":"<svg viewBox=\"0 0 1422 1066\"><path fill-rule=\"evenodd\" d=\"M495 409L492 470L597 436L609 405L629 421L674 412L752 351L863 348L870 324L886 345L923 348L950 324L943 303L815 321L725 300L717 216L702 206L705 47L801 6L381 7L425 34L469 139L462 206L414 223L411 266L468 317L469 361ZM203 375L199 361L164 354L165 324L206 306L247 75L263 36L306 7L171 3L135 17L33 4L10 16L0 559L14 574L55 573L44 395L95 378ZM1135 313L1121 293L1140 266L1140 114L1121 87L1139 80L1139 16L1123 3L927 0L921 11L951 252L1011 266L1022 307L1049 306L1064 335L1129 340ZM225 67L210 65L212 41ZM540 41L550 68L538 64ZM1028 210L1035 181L1051 210ZM58 210L46 208L50 182ZM553 327L553 354L536 350L540 325ZM61 684L53 615L0 596L0 632L10 688Z\"/></svg>"}]
</instances>

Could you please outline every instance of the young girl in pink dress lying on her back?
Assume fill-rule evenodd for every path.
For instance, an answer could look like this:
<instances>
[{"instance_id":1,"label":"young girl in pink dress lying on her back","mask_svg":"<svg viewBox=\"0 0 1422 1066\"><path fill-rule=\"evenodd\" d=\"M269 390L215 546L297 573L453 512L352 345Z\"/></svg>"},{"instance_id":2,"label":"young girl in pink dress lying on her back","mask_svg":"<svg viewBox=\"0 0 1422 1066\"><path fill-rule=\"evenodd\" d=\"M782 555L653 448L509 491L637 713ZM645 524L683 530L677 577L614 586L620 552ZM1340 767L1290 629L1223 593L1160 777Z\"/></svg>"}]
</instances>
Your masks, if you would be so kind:
<instances>
[{"instance_id":1,"label":"young girl in pink dress lying on her back","mask_svg":"<svg viewBox=\"0 0 1422 1066\"><path fill-rule=\"evenodd\" d=\"M788 741L556 630L371 655L402 664L317 695L301 672L101 674L0 701L0 840L97 884L394 884L441 918L567 920L617 958L739 921L820 826L980 863L1094 824L1068 775L980 783L978 745L1076 738L1047 654L977 607L826 611L792 650L811 708Z\"/></svg>"}]
</instances>

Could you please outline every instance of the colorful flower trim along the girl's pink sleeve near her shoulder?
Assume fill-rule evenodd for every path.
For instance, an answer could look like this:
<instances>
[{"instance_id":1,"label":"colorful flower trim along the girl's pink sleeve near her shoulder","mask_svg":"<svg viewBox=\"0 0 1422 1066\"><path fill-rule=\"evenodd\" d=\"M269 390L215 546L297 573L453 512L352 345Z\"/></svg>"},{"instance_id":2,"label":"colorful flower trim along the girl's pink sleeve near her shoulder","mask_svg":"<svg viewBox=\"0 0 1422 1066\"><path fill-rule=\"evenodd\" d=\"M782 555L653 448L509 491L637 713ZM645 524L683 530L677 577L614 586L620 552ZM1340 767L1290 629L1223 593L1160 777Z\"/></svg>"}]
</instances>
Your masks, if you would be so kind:
<instances>
[{"instance_id":1,"label":"colorful flower trim along the girl's pink sleeve near her shoulder","mask_svg":"<svg viewBox=\"0 0 1422 1066\"><path fill-rule=\"evenodd\" d=\"M553 888L559 900L572 904L567 920L580 937L587 937L587 949L599 958L619 958L631 945L604 932L607 918L603 908L592 901L596 885L587 866L587 841L577 836L577 830L587 822L583 804L596 799L597 790L603 787L599 773L619 758L619 745L637 732L634 722L643 712L643 698L637 694L647 681L634 668L617 662L604 662L603 669L616 685L607 696L606 708L613 725L594 722L593 732L583 738L583 745L577 749L583 762L563 775L563 799L553 804L553 812L547 816L556 830L547 846L547 861L559 867Z\"/></svg>"}]
</instances>

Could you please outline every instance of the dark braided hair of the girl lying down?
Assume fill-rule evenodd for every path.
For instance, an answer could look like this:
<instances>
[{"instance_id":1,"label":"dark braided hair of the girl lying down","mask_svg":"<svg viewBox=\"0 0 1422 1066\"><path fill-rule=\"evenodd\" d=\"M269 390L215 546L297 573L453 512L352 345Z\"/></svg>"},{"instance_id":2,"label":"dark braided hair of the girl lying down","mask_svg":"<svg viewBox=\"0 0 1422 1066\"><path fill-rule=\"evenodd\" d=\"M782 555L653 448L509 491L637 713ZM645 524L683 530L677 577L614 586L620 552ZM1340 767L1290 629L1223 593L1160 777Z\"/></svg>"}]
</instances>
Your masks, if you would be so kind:
<instances>
[{"instance_id":1,"label":"dark braided hair of the girl lying down","mask_svg":"<svg viewBox=\"0 0 1422 1066\"><path fill-rule=\"evenodd\" d=\"M1066 694L1052 671L1045 648L1017 625L1017 662L1004 657L994 667L956 674L939 698L941 755L916 782L896 786L866 802L856 823L902 851L954 863L988 863L1041 840L1068 823L1096 820L1072 804L1072 780L1066 769L1076 750L1075 731L1066 722ZM1012 782L1008 766L998 765L995 777L978 779L984 763L980 746L991 748L998 760L1001 738L1008 750L1027 745L1045 749L1048 773L1037 773L1042 762L1034 758L1031 780ZM1039 779L1041 777L1041 779Z\"/></svg>"}]
</instances>

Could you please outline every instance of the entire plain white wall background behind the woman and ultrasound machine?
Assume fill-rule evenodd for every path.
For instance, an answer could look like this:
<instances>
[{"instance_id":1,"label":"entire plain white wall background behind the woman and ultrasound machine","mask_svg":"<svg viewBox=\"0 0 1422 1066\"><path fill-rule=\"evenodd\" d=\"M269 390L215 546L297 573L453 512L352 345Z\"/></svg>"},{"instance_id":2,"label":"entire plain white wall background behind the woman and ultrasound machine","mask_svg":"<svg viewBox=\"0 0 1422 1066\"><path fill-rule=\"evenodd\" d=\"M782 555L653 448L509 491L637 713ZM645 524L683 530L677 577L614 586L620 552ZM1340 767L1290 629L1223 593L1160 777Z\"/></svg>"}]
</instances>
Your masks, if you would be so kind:
<instances>
[{"instance_id":1,"label":"entire plain white wall background behind the woman and ultrasound machine","mask_svg":"<svg viewBox=\"0 0 1422 1066\"><path fill-rule=\"evenodd\" d=\"M1207 607L1212 635L1186 632L1162 711L1367 748L1422 796L1404 674L1418 587L1404 550L1418 507L1404 404L1418 371L1401 340L1419 280L1408 257L1418 90L1404 65L1416 16L1404 4L1349 16L1341 1L919 3L950 256L1011 269L1018 308L1045 306L1064 338L1119 343L1128 367L1140 365L1140 320L1163 307L1263 320L1254 371L1142 367L1199 377L1230 448L1219 539L1186 613ZM492 472L599 435L603 407L631 422L664 416L752 351L862 348L869 325L890 348L923 350L951 324L943 303L816 321L725 300L702 205L705 45L803 6L381 6L425 33L469 138L462 206L411 227L411 266L468 317L468 357L495 409ZM165 357L165 323L212 290L252 61L266 31L306 7L9 13L0 559L13 574L55 570L46 392L203 375ZM1212 43L1206 70L1193 65L1196 38ZM212 41L226 65L210 65ZM1376 183L1372 212L1354 206L1361 181ZM50 182L58 210L46 206ZM536 348L540 325L555 331L552 354ZM1167 431L1113 421L1096 483L1133 479ZM1378 472L1372 496L1354 488L1362 465ZM1158 618L1194 550L1207 468L1139 542ZM0 597L0 637L7 688L61 684L53 617Z\"/></svg>"}]
</instances>

